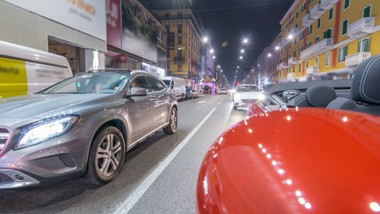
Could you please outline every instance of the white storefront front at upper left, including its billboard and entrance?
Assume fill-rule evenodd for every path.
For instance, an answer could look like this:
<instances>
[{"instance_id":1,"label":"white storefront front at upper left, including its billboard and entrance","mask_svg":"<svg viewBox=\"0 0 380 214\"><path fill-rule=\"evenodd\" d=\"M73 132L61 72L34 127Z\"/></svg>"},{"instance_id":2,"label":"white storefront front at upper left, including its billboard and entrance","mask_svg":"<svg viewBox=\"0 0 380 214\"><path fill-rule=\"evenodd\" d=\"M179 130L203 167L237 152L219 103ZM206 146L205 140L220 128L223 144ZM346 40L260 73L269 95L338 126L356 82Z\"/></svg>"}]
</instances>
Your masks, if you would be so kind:
<instances>
[{"instance_id":1,"label":"white storefront front at upper left, including its billboard and entrance","mask_svg":"<svg viewBox=\"0 0 380 214\"><path fill-rule=\"evenodd\" d=\"M7 30L0 31L0 40L62 55L73 74L103 69L107 51L104 5L102 0L82 4L4 0L0 28Z\"/></svg>"}]
</instances>

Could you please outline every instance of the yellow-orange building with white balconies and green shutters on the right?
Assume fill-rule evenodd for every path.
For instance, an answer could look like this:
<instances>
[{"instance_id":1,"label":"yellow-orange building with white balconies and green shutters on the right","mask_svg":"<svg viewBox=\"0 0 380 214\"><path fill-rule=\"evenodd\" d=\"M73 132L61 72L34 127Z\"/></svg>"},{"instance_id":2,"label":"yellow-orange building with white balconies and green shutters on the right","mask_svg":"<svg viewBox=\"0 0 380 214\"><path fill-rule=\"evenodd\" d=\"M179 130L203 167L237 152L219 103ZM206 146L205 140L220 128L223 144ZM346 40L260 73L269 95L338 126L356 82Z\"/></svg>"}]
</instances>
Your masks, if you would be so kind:
<instances>
[{"instance_id":1,"label":"yellow-orange building with white balconies and green shutters on the right","mask_svg":"<svg viewBox=\"0 0 380 214\"><path fill-rule=\"evenodd\" d=\"M380 1L296 0L281 24L278 79L350 78L380 53Z\"/></svg>"}]
</instances>

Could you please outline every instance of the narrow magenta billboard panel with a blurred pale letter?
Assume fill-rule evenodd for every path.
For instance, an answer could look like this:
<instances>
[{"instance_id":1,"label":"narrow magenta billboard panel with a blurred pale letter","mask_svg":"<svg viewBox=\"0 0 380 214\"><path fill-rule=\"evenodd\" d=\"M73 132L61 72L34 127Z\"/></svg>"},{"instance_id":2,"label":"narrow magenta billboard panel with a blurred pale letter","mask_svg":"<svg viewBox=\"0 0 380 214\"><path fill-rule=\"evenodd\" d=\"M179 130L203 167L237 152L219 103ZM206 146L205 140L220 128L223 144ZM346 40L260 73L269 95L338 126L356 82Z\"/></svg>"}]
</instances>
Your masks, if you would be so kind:
<instances>
[{"instance_id":1,"label":"narrow magenta billboard panel with a blurred pale letter","mask_svg":"<svg viewBox=\"0 0 380 214\"><path fill-rule=\"evenodd\" d=\"M121 2L106 0L107 44L121 48Z\"/></svg>"}]
</instances>

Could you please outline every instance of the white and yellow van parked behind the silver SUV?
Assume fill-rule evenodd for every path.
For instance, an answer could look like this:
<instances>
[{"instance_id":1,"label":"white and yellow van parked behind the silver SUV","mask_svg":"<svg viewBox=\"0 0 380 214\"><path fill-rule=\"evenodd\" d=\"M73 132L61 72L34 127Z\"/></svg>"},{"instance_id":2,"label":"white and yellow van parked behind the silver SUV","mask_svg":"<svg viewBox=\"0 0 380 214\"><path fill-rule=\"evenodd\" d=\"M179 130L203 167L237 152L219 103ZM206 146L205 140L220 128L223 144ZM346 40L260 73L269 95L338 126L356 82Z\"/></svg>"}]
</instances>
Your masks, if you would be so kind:
<instances>
[{"instance_id":1,"label":"white and yellow van parked behind the silver SUV","mask_svg":"<svg viewBox=\"0 0 380 214\"><path fill-rule=\"evenodd\" d=\"M0 41L0 99L36 93L70 77L63 56Z\"/></svg>"}]
</instances>

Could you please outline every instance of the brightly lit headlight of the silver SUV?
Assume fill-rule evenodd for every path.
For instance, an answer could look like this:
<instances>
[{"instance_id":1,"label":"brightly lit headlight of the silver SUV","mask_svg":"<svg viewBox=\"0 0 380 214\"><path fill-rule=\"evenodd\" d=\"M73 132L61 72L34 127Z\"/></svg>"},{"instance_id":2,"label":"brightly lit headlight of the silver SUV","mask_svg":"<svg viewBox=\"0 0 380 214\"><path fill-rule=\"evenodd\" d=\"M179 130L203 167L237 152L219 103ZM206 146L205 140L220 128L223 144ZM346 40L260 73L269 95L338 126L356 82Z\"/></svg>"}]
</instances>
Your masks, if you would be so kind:
<instances>
[{"instance_id":1,"label":"brightly lit headlight of the silver SUV","mask_svg":"<svg viewBox=\"0 0 380 214\"><path fill-rule=\"evenodd\" d=\"M21 136L14 149L29 147L62 136L75 127L78 119L77 115L64 115L32 123L21 129Z\"/></svg>"}]
</instances>

